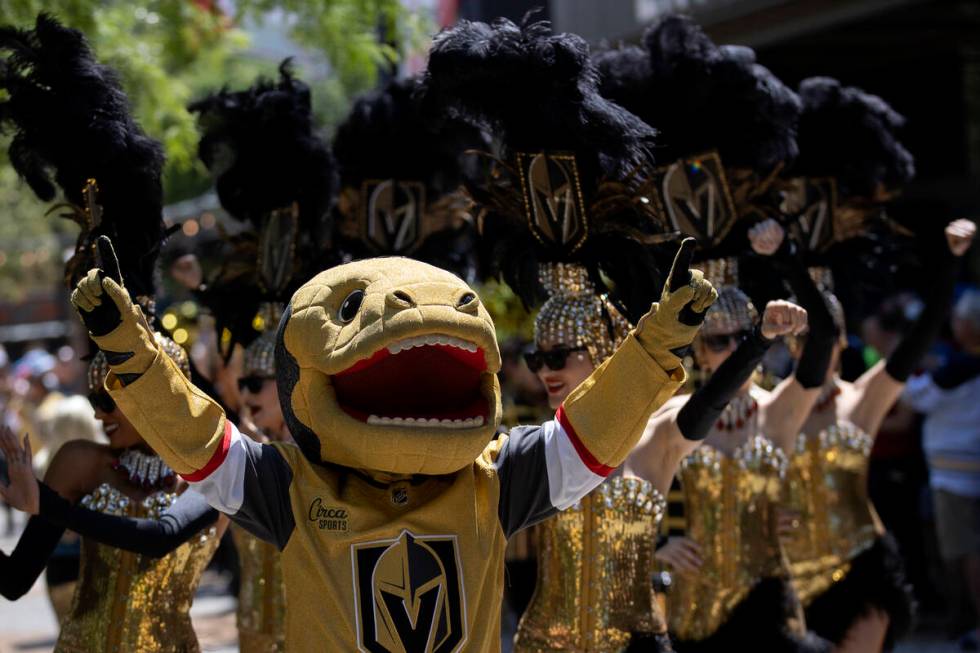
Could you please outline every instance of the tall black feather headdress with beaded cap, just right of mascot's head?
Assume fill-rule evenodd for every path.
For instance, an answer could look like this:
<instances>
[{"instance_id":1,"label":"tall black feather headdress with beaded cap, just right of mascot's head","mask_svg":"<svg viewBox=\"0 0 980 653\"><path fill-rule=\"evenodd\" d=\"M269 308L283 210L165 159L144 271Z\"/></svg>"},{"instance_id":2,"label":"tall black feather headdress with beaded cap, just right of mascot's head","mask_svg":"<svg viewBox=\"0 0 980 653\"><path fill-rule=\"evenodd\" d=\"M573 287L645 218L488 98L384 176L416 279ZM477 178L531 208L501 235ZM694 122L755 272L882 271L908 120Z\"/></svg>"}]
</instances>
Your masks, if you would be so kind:
<instances>
[{"instance_id":1,"label":"tall black feather headdress with beaded cap, just right of mascot's head","mask_svg":"<svg viewBox=\"0 0 980 653\"><path fill-rule=\"evenodd\" d=\"M499 142L467 185L484 272L527 307L543 300L539 345L585 347L598 365L660 289L654 130L598 93L583 39L528 18L440 33L424 91Z\"/></svg>"}]
</instances>

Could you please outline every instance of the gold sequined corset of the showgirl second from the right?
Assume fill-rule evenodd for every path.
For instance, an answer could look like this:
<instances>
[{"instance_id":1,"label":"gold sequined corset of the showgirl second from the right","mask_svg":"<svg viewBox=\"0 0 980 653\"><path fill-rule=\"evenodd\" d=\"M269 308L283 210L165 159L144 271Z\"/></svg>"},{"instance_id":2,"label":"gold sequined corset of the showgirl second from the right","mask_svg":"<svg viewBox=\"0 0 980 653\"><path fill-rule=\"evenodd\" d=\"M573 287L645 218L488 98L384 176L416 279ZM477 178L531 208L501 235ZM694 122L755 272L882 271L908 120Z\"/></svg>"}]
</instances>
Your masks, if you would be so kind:
<instances>
[{"instance_id":1,"label":"gold sequined corset of the showgirl second from the right","mask_svg":"<svg viewBox=\"0 0 980 653\"><path fill-rule=\"evenodd\" d=\"M681 464L686 534L703 564L695 575L674 575L667 613L678 638L710 636L756 583L787 575L773 522L786 466L762 436L731 456L701 445Z\"/></svg>"}]
</instances>

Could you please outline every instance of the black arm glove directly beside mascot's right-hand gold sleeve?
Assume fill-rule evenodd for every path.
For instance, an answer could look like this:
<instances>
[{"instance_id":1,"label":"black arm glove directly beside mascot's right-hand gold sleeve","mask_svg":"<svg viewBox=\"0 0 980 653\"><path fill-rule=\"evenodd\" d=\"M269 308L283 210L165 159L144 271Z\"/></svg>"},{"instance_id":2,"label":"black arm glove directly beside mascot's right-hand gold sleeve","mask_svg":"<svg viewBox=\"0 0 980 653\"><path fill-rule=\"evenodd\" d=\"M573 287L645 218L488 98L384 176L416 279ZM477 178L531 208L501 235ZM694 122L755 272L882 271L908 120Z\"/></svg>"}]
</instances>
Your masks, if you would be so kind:
<instances>
[{"instance_id":1,"label":"black arm glove directly beside mascot's right-hand gold sleeve","mask_svg":"<svg viewBox=\"0 0 980 653\"><path fill-rule=\"evenodd\" d=\"M725 359L707 383L695 390L677 413L677 428L688 440L703 440L738 389L752 376L772 340L759 327Z\"/></svg>"}]
</instances>

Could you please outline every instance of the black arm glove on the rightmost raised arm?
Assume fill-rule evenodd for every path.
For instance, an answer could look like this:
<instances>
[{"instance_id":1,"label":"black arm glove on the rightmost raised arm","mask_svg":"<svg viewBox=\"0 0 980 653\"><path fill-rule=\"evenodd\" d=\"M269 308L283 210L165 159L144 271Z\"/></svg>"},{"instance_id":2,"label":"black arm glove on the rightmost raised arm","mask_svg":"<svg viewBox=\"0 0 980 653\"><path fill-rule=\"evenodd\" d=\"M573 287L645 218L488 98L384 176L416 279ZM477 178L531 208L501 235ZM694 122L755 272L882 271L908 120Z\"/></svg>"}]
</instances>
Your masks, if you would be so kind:
<instances>
[{"instance_id":1,"label":"black arm glove on the rightmost raised arm","mask_svg":"<svg viewBox=\"0 0 980 653\"><path fill-rule=\"evenodd\" d=\"M953 303L953 290L956 288L958 273L959 259L947 253L937 270L935 283L930 286L926 294L922 313L885 363L888 376L899 383L908 380L909 375L919 364L919 360L939 335L939 330L942 329L949 314L949 306Z\"/></svg>"}]
</instances>

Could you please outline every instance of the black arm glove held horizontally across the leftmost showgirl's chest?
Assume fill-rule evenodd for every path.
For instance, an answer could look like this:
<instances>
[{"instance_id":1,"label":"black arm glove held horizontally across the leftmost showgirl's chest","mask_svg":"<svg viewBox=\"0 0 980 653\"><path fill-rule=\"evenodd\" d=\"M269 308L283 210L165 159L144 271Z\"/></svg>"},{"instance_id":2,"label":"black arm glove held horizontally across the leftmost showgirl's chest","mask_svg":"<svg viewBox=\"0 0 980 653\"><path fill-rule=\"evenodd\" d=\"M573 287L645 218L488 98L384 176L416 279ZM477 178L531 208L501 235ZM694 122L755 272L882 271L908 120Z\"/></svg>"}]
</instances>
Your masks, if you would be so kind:
<instances>
[{"instance_id":1,"label":"black arm glove held horizontally across the leftmost showgirl's chest","mask_svg":"<svg viewBox=\"0 0 980 653\"><path fill-rule=\"evenodd\" d=\"M218 519L218 511L192 491L180 495L159 519L134 519L72 505L44 483L38 485L40 515L47 521L96 542L151 558L162 558Z\"/></svg>"}]
</instances>

